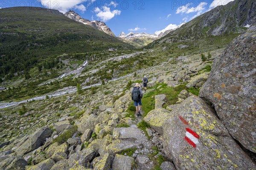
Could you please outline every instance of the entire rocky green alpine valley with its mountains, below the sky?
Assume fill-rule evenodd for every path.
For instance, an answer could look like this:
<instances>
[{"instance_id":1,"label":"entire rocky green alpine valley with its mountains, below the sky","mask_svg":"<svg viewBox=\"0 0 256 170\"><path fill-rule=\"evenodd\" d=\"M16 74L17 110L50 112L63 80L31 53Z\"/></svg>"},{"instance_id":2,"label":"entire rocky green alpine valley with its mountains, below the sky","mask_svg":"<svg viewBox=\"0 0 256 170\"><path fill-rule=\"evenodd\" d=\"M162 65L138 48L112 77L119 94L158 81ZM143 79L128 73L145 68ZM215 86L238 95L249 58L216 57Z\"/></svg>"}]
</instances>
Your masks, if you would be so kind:
<instances>
[{"instance_id":1,"label":"entire rocky green alpine valley with its mountains, below the sky","mask_svg":"<svg viewBox=\"0 0 256 170\"><path fill-rule=\"evenodd\" d=\"M0 8L0 169L255 170L255 9L116 37L72 10Z\"/></svg>"}]
</instances>

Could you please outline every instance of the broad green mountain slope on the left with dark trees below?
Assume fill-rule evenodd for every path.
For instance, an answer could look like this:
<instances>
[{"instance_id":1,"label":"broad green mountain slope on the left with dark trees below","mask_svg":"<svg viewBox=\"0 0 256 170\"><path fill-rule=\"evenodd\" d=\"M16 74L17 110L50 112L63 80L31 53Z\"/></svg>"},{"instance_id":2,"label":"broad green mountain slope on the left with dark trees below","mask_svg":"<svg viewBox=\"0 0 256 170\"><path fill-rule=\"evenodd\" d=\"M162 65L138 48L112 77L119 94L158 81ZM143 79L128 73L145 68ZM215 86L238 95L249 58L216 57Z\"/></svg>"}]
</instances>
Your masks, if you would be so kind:
<instances>
[{"instance_id":1,"label":"broad green mountain slope on the left with dark trees below","mask_svg":"<svg viewBox=\"0 0 256 170\"><path fill-rule=\"evenodd\" d=\"M28 71L59 54L132 48L115 37L76 22L55 10L35 7L0 9L0 77ZM3 68L2 68L3 66Z\"/></svg>"}]
</instances>

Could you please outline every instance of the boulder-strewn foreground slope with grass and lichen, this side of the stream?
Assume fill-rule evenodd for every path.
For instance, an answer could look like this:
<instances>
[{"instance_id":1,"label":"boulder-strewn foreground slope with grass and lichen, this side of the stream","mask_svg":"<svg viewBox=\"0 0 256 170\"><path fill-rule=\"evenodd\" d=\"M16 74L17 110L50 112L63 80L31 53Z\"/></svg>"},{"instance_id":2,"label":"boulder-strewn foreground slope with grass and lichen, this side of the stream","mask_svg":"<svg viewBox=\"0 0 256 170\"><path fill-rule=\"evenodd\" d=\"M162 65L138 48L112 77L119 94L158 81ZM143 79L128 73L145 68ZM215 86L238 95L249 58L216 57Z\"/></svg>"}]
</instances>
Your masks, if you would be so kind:
<instances>
[{"instance_id":1,"label":"boulder-strewn foreground slope with grass and lichen, this side of the stream","mask_svg":"<svg viewBox=\"0 0 256 170\"><path fill-rule=\"evenodd\" d=\"M243 95L253 93L250 92L253 84L249 82L254 82L250 75L255 62L255 35L256 29L252 27L226 49L212 51L212 57L204 62L198 54L166 58L159 65L141 68L135 77L129 75L97 89L85 89L82 94L66 94L2 109L1 169L255 169L255 110L247 109L252 107L250 102L255 96L244 97L243 100L248 100L244 104L239 102ZM233 49L238 46L243 50ZM153 51L150 53L154 55ZM207 65L213 60L209 74ZM241 66L236 69L239 77L232 75L236 61L241 64L234 66L248 63L247 70L239 70L244 69ZM218 68L221 63L225 63L221 66L223 71ZM230 76L215 85L229 69ZM143 91L143 116L136 117L130 96L132 82L145 73L149 89ZM243 81L240 77L244 77ZM241 88L236 88L236 92L228 88L230 85ZM196 96L198 88L203 98ZM170 91L175 99L170 98ZM248 111L239 114L243 119L228 118L238 111L224 95L232 95L233 103L239 102L239 108ZM22 110L26 113L19 114ZM244 127L247 131L242 131L241 120L246 122L243 126L248 125ZM243 133L243 138L239 138L237 131Z\"/></svg>"}]
</instances>

